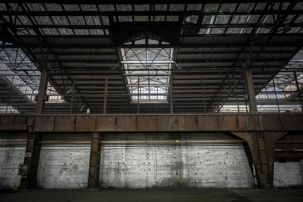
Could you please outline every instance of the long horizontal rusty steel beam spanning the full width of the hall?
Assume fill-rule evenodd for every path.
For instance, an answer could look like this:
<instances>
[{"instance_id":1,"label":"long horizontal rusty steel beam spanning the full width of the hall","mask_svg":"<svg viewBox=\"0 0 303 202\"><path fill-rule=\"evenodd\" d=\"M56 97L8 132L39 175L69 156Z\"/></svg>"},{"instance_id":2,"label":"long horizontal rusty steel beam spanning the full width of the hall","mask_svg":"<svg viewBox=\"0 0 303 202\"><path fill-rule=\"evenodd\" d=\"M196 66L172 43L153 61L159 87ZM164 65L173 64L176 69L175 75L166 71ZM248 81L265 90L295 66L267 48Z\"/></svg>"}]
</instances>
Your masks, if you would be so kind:
<instances>
[{"instance_id":1,"label":"long horizontal rusty steel beam spanning the full width of the hall","mask_svg":"<svg viewBox=\"0 0 303 202\"><path fill-rule=\"evenodd\" d=\"M3 115L0 125L28 125L34 131L303 131L303 114L44 114Z\"/></svg>"}]
</instances>

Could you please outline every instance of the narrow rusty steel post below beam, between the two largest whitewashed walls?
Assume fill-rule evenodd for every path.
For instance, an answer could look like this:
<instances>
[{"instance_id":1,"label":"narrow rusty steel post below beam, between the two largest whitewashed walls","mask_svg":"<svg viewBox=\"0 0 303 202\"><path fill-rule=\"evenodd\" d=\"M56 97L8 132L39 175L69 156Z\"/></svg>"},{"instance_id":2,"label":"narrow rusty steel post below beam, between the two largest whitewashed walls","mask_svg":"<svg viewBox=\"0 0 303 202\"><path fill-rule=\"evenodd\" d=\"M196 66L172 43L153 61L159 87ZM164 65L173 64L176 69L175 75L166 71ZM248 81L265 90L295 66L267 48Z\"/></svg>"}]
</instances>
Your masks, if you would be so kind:
<instances>
[{"instance_id":1,"label":"narrow rusty steel post below beam, between the two largest whitewashed walls","mask_svg":"<svg viewBox=\"0 0 303 202\"><path fill-rule=\"evenodd\" d=\"M91 132L88 188L97 188L99 184L100 146L99 133Z\"/></svg>"}]
</instances>

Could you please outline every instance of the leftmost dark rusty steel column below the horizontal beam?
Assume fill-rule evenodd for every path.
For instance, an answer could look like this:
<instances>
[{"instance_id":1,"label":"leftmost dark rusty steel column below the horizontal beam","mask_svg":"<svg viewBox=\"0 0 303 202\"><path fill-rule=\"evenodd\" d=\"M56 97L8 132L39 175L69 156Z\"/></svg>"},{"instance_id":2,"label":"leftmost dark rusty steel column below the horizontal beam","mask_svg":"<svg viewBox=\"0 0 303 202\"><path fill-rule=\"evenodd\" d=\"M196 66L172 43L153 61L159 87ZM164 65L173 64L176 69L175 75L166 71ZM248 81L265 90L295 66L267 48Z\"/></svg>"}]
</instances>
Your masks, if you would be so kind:
<instances>
[{"instance_id":1,"label":"leftmost dark rusty steel column below the horizontal beam","mask_svg":"<svg viewBox=\"0 0 303 202\"><path fill-rule=\"evenodd\" d=\"M36 145L38 132L28 132L27 135L28 136L23 164L23 166L27 166L27 172L26 175L23 175L21 178L21 189L35 188L37 185L37 170L41 145Z\"/></svg>"}]
</instances>

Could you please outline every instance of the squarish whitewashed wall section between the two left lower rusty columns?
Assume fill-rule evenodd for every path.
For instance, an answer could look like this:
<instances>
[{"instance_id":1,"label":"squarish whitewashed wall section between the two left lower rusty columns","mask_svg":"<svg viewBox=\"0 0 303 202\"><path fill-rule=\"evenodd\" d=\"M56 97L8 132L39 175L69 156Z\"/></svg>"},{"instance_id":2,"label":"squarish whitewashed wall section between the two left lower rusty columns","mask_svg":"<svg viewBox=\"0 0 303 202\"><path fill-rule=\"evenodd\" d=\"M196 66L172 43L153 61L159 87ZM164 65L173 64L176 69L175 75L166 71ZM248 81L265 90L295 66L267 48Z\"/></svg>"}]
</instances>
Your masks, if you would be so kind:
<instances>
[{"instance_id":1,"label":"squarish whitewashed wall section between the two left lower rusty columns","mask_svg":"<svg viewBox=\"0 0 303 202\"><path fill-rule=\"evenodd\" d=\"M86 188L90 145L42 145L37 182L40 188Z\"/></svg>"}]
</instances>

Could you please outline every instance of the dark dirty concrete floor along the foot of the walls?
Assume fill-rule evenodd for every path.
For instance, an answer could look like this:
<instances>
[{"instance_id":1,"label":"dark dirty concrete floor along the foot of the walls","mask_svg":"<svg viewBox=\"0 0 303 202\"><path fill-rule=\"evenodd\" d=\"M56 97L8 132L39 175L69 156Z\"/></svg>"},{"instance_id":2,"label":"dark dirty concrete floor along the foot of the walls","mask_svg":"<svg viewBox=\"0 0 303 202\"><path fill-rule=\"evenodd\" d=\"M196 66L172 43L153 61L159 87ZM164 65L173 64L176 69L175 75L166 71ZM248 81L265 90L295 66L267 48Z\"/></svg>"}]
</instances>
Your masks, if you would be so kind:
<instances>
[{"instance_id":1,"label":"dark dirty concrete floor along the foot of the walls","mask_svg":"<svg viewBox=\"0 0 303 202\"><path fill-rule=\"evenodd\" d=\"M176 188L176 189L41 189L11 194L0 194L0 201L303 201L303 190L263 191L252 188Z\"/></svg>"}]
</instances>

